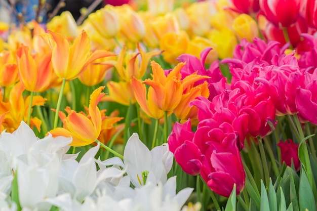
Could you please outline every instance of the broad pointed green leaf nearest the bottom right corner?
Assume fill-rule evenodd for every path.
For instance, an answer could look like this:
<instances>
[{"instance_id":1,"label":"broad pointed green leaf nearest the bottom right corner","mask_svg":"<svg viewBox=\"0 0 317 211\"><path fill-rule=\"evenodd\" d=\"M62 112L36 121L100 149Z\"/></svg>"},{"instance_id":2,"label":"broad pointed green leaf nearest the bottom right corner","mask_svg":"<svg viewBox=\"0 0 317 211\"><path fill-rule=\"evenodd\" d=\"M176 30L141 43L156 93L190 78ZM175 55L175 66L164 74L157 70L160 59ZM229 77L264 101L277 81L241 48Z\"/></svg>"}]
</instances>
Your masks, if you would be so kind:
<instances>
[{"instance_id":1,"label":"broad pointed green leaf nearest the bottom right corner","mask_svg":"<svg viewBox=\"0 0 317 211\"><path fill-rule=\"evenodd\" d=\"M305 211L306 208L316 210L315 199L305 171L301 171L300 174L298 197L300 211Z\"/></svg>"}]
</instances>

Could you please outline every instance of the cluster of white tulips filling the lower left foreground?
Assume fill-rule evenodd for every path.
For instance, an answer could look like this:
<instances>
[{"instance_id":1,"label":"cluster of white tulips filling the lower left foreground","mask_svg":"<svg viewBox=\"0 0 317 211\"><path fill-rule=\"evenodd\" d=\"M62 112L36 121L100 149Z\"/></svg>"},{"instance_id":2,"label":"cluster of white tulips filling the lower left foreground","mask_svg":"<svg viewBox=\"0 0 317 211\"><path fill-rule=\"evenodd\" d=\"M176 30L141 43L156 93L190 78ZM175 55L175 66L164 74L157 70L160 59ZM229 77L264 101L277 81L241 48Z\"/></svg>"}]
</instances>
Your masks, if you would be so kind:
<instances>
[{"instance_id":1,"label":"cluster of white tulips filling the lower left foreground","mask_svg":"<svg viewBox=\"0 0 317 211\"><path fill-rule=\"evenodd\" d=\"M78 162L78 154L66 154L69 143L50 134L38 139L23 121L14 133L3 132L0 211L181 210L193 190L176 194L176 177L167 179L173 162L168 145L149 151L133 134L124 160L95 159L98 144Z\"/></svg>"}]
</instances>

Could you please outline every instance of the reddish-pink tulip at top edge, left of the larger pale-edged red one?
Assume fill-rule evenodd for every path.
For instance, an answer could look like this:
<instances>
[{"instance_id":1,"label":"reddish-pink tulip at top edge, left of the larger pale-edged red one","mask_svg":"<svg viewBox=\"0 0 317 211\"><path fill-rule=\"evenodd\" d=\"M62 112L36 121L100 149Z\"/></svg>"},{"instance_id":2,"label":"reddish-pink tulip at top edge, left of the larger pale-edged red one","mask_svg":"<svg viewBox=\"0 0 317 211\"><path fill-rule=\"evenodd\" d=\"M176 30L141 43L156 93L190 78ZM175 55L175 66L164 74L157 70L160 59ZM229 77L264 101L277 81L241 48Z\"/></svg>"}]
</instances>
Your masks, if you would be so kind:
<instances>
[{"instance_id":1,"label":"reddish-pink tulip at top edge, left of the larger pale-edged red one","mask_svg":"<svg viewBox=\"0 0 317 211\"><path fill-rule=\"evenodd\" d=\"M259 0L229 0L229 3L234 6L233 10L239 13L253 15L260 10Z\"/></svg>"}]
</instances>

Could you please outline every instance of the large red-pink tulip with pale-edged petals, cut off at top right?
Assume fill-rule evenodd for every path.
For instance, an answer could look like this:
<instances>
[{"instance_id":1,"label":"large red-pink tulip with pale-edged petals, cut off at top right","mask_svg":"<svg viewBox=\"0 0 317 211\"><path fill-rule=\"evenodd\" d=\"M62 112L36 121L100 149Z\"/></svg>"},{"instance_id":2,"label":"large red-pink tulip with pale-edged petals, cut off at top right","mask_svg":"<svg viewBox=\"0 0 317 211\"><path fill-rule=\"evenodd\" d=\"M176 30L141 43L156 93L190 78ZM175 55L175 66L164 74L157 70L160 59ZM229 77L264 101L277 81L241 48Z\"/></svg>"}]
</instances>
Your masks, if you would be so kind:
<instances>
[{"instance_id":1,"label":"large red-pink tulip with pale-edged petals, cut off at top right","mask_svg":"<svg viewBox=\"0 0 317 211\"><path fill-rule=\"evenodd\" d=\"M266 19L276 27L289 27L296 22L303 6L302 0L260 0Z\"/></svg>"}]
</instances>

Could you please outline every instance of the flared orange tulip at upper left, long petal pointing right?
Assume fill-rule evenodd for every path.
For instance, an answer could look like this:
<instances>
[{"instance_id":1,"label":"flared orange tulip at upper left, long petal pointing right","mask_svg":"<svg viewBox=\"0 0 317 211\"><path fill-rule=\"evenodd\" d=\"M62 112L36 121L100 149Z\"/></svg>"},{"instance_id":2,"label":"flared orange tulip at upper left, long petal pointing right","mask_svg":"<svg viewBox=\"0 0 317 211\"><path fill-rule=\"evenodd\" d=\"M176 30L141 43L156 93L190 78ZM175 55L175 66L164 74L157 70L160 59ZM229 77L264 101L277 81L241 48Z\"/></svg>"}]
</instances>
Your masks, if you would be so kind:
<instances>
[{"instance_id":1,"label":"flared orange tulip at upper left, long petal pointing right","mask_svg":"<svg viewBox=\"0 0 317 211\"><path fill-rule=\"evenodd\" d=\"M95 51L91 53L90 39L83 30L81 35L74 40L70 47L68 40L61 34L49 31L55 45L52 51L54 71L60 78L67 80L78 77L96 59L115 56L108 51Z\"/></svg>"}]
</instances>

